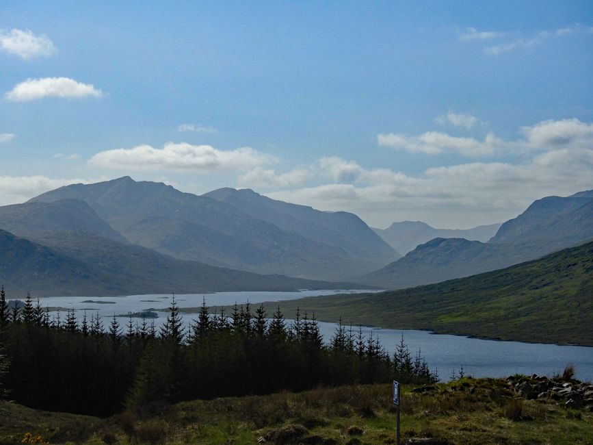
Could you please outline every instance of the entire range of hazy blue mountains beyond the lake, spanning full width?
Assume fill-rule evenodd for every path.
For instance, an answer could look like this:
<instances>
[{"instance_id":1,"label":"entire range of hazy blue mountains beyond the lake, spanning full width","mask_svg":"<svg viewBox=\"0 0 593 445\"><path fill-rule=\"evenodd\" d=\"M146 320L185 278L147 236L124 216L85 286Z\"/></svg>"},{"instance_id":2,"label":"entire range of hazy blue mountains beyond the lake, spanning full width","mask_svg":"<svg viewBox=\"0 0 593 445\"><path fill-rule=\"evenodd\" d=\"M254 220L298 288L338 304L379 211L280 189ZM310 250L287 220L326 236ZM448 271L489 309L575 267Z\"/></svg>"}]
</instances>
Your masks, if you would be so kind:
<instances>
[{"instance_id":1,"label":"entire range of hazy blue mountains beyond the lake, spanning full width","mask_svg":"<svg viewBox=\"0 0 593 445\"><path fill-rule=\"evenodd\" d=\"M404 221L382 231L351 213L253 190L198 196L122 177L0 207L0 230L0 283L18 292L397 289L505 268L593 239L593 191L540 199L502 225L446 230Z\"/></svg>"}]
</instances>

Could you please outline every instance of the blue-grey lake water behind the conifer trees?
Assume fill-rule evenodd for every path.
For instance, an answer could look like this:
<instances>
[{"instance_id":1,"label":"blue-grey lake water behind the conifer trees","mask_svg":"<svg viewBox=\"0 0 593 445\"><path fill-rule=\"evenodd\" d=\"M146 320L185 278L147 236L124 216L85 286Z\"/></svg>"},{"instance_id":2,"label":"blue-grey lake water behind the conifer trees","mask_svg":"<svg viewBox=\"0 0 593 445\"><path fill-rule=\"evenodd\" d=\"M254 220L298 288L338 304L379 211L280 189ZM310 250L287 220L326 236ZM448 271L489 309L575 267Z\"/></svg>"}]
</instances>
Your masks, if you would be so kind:
<instances>
[{"instance_id":1,"label":"blue-grey lake water behind the conifer trees","mask_svg":"<svg viewBox=\"0 0 593 445\"><path fill-rule=\"evenodd\" d=\"M285 301L305 296L330 295L336 293L358 293L373 291L336 291L315 290L302 292L218 292L215 294L183 294L176 296L179 307L198 307L205 298L209 307L250 303L263 301ZM83 301L111 302L111 304L83 303ZM87 314L95 311L103 316L107 326L114 314L127 314L143 309L161 309L170 304L170 295L131 295L118 297L47 297L42 298L42 305L53 307L68 307L77 309L77 316L81 318L83 309ZM65 314L62 314L64 319ZM159 326L167 314L159 313L155 325ZM189 325L196 314L185 314L185 325ZM120 319L121 325L126 323ZM319 328L325 340L329 340L336 325L319 322ZM410 351L421 351L431 369L437 368L441 379L448 380L453 370L464 367L466 374L474 377L503 377L510 374L546 374L551 376L555 372L562 372L566 364L573 364L577 368L577 378L593 381L593 348L584 346L557 346L555 344L530 344L521 342L497 342L494 340L479 340L457 335L434 335L427 331L411 331L399 329L370 329L363 328L365 335L378 335L383 346L389 353L393 353L395 344L399 342L403 333L404 340Z\"/></svg>"}]
</instances>

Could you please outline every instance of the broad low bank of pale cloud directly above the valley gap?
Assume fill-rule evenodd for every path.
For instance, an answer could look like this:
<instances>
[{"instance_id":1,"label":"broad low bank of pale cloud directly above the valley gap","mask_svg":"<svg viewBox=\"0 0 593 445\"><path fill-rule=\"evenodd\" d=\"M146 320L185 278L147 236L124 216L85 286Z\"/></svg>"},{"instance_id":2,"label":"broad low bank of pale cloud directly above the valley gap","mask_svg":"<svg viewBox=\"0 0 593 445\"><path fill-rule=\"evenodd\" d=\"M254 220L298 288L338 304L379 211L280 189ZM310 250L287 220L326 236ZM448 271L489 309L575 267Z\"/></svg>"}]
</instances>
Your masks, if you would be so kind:
<instances>
[{"instance_id":1,"label":"broad low bank of pale cloud directly above the valley gap","mask_svg":"<svg viewBox=\"0 0 593 445\"><path fill-rule=\"evenodd\" d=\"M522 164L472 162L428 168L419 175L332 160L358 166L358 183L330 183L267 196L323 210L347 210L378 227L397 220L424 220L436 227L467 228L512 218L542 196L593 188L593 149L557 149Z\"/></svg>"}]
</instances>

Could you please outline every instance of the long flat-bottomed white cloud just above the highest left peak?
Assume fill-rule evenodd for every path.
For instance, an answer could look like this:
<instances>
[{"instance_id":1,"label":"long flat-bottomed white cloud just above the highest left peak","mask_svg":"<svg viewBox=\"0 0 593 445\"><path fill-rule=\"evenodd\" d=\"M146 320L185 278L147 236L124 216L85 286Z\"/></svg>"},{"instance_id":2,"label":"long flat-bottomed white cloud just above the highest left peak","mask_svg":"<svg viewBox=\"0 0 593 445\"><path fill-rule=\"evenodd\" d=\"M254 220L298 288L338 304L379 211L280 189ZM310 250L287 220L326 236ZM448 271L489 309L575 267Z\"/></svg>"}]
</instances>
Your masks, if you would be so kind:
<instances>
[{"instance_id":1,"label":"long flat-bottomed white cloud just above the highest left peak","mask_svg":"<svg viewBox=\"0 0 593 445\"><path fill-rule=\"evenodd\" d=\"M238 170L246 171L274 158L250 147L218 150L210 145L168 142L162 149L139 145L96 153L90 164L124 170Z\"/></svg>"}]
</instances>

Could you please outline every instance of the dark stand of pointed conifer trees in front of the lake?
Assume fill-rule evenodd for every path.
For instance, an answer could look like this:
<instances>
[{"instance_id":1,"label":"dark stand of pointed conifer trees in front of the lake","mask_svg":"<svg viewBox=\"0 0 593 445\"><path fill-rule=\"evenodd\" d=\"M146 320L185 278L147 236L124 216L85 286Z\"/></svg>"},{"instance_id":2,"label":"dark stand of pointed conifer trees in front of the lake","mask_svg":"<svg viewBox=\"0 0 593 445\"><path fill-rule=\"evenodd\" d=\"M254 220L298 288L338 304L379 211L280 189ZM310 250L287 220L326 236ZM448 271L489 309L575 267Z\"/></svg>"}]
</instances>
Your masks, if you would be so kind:
<instances>
[{"instance_id":1,"label":"dark stand of pointed conifer trees in front of the lake","mask_svg":"<svg viewBox=\"0 0 593 445\"><path fill-rule=\"evenodd\" d=\"M378 338L339 323L324 344L315 316L263 306L209 314L202 303L189 329L172 297L166 323L98 314L51 316L28 296L9 307L0 288L0 394L49 411L109 416L125 407L195 398L300 391L320 385L438 380L401 338L393 357Z\"/></svg>"}]
</instances>

